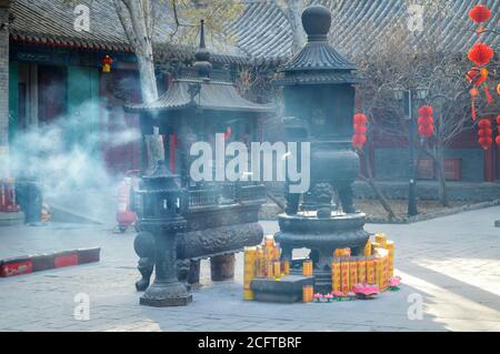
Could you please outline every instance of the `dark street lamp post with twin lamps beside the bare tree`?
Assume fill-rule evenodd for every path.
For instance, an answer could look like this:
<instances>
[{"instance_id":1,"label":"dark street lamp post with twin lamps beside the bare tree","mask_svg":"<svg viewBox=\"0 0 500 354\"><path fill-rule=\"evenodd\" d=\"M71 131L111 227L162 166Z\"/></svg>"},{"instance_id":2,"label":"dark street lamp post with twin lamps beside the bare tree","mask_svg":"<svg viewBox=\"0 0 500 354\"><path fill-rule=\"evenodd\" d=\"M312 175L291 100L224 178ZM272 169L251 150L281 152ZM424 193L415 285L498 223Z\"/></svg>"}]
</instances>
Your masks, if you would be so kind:
<instances>
[{"instance_id":1,"label":"dark street lamp post with twin lamps beside the bare tree","mask_svg":"<svg viewBox=\"0 0 500 354\"><path fill-rule=\"evenodd\" d=\"M404 102L404 118L408 120L408 149L409 149L409 164L408 164L408 176L409 176L409 191L408 191L408 215L417 215L417 176L416 176L416 163L414 163L414 139L417 135L417 124L413 119L413 101L422 101L429 94L429 90L423 87L418 87L414 89L404 89L398 87L394 90L394 98L398 101ZM413 98L416 100L413 100Z\"/></svg>"}]
</instances>

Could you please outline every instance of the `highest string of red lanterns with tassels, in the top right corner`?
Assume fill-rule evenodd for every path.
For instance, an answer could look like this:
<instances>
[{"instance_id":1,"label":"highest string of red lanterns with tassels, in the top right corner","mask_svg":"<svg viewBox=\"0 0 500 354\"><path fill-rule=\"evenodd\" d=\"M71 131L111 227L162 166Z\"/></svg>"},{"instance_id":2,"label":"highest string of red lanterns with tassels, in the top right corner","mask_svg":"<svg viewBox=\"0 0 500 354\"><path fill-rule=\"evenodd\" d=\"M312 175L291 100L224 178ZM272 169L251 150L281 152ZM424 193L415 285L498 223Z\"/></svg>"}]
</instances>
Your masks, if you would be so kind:
<instances>
[{"instance_id":1,"label":"highest string of red lanterns with tassels, in the top right corner","mask_svg":"<svg viewBox=\"0 0 500 354\"><path fill-rule=\"evenodd\" d=\"M489 72L486 68L482 67L487 65L491 61L494 55L494 51L490 45L480 41L481 34L484 32L484 28L481 23L488 21L491 18L491 10L486 4L478 4L473 7L469 12L469 17L473 22L479 24L476 31L476 33L478 34L478 42L469 50L468 53L469 60L472 61L476 67L469 70L466 74L467 80L472 85L469 91L471 98L471 115L472 120L476 120L478 115L476 112L476 100L479 97L479 87L481 84L484 84L483 91L488 104L491 104L493 101L490 90L486 84Z\"/></svg>"}]
</instances>

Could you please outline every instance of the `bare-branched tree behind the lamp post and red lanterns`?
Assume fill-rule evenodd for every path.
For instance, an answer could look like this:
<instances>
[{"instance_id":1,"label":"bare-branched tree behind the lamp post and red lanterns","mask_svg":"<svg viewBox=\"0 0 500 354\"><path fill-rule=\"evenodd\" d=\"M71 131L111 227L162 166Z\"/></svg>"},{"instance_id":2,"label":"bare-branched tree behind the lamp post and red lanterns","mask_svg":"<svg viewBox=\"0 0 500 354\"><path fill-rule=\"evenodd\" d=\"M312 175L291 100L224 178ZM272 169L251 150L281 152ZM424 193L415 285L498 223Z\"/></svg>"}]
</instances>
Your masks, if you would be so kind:
<instances>
[{"instance_id":1,"label":"bare-branched tree behind the lamp post and red lanterns","mask_svg":"<svg viewBox=\"0 0 500 354\"><path fill-rule=\"evenodd\" d=\"M463 28L468 28L467 23ZM420 103L433 107L436 133L430 139L416 139L418 146L434 163L440 201L449 206L444 151L476 128L471 118L470 87L464 78L472 64L466 53L443 51L440 41L444 39L437 33L423 32L416 37L404 29L404 23L398 22L391 33L372 52L358 60L366 79L358 90L359 99L367 115L372 117L379 135L407 141L408 124L400 119L401 107L393 99L391 89L397 85L429 88L428 99ZM473 32L464 30L463 36L473 36ZM412 44L401 48L401 43ZM498 62L491 67L493 71ZM477 104L480 117L496 111L483 97Z\"/></svg>"}]
</instances>

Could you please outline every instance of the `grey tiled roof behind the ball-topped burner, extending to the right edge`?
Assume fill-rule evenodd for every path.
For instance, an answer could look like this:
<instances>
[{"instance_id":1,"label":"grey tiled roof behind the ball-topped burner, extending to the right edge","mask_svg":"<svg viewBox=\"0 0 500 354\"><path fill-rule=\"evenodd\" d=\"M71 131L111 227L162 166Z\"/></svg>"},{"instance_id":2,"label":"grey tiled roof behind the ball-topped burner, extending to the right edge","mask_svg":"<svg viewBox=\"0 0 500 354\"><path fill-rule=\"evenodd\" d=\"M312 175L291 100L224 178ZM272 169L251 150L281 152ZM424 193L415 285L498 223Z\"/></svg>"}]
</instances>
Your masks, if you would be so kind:
<instances>
[{"instance_id":1,"label":"grey tiled roof behind the ball-topped burner, extending to the right edge","mask_svg":"<svg viewBox=\"0 0 500 354\"><path fill-rule=\"evenodd\" d=\"M394 34L394 24L408 30L407 1L402 0L313 0L332 11L330 42L348 59L373 52L377 45ZM433 1L432 1L433 3ZM443 52L464 52L476 41L472 21L468 13L477 0L443 0L441 10L424 7L423 32L414 32L408 41L394 50L414 50L422 37L438 39L438 50ZM492 17L488 27L499 30L500 0L484 0ZM243 16L232 24L239 36L240 48L252 58L290 58L292 39L290 24L284 14L272 1L249 1ZM409 30L408 30L409 31ZM493 48L500 47L500 36L484 33L483 40ZM411 40L412 39L412 40Z\"/></svg>"}]
</instances>

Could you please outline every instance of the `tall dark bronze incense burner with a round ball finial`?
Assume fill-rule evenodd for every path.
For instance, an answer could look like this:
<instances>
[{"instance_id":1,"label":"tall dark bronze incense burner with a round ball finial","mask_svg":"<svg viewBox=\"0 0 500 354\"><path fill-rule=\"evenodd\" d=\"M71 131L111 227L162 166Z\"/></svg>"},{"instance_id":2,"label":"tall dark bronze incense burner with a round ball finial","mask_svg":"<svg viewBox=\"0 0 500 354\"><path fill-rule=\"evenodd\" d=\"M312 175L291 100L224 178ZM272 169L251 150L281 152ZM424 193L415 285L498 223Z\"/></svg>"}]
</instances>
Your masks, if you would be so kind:
<instances>
[{"instance_id":1,"label":"tall dark bronze incense burner with a round ball finial","mask_svg":"<svg viewBox=\"0 0 500 354\"><path fill-rule=\"evenodd\" d=\"M334 250L350 247L356 255L368 240L366 215L352 203L352 183L360 169L351 149L353 84L360 80L353 73L357 67L328 42L331 13L327 8L308 7L302 24L308 43L283 68L277 84L284 88L287 140L310 143L311 186L302 194L287 189L287 209L279 216L276 240L283 260L292 260L294 249L311 251L316 289L328 293Z\"/></svg>"}]
</instances>

